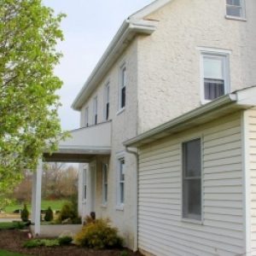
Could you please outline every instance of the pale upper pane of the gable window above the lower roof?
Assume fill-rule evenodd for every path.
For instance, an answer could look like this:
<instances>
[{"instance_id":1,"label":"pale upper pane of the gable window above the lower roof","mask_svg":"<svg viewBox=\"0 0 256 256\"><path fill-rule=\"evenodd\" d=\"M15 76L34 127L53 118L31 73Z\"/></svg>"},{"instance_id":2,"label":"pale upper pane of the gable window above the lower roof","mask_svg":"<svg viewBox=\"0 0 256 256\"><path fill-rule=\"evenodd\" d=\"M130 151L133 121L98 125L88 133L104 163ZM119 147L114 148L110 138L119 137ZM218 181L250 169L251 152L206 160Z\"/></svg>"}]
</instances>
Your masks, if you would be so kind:
<instances>
[{"instance_id":1,"label":"pale upper pane of the gable window above the lower roof","mask_svg":"<svg viewBox=\"0 0 256 256\"><path fill-rule=\"evenodd\" d=\"M210 79L224 79L223 58L205 56L204 77Z\"/></svg>"}]
</instances>

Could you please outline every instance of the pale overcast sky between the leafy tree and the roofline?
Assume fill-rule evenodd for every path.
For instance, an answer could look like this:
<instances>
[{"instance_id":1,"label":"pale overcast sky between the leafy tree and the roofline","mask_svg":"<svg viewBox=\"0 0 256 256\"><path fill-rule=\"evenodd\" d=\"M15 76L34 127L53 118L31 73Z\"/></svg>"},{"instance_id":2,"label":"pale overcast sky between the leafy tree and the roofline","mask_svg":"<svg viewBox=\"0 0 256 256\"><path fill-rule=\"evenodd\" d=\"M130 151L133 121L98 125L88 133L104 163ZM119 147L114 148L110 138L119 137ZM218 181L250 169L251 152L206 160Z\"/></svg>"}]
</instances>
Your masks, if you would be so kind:
<instances>
[{"instance_id":1,"label":"pale overcast sky between the leafy tree and the roofline","mask_svg":"<svg viewBox=\"0 0 256 256\"><path fill-rule=\"evenodd\" d=\"M123 20L153 0L44 0L65 13L61 23L65 41L58 45L64 55L55 73L64 82L60 91L63 130L79 127L79 113L71 104L96 66Z\"/></svg>"}]
</instances>

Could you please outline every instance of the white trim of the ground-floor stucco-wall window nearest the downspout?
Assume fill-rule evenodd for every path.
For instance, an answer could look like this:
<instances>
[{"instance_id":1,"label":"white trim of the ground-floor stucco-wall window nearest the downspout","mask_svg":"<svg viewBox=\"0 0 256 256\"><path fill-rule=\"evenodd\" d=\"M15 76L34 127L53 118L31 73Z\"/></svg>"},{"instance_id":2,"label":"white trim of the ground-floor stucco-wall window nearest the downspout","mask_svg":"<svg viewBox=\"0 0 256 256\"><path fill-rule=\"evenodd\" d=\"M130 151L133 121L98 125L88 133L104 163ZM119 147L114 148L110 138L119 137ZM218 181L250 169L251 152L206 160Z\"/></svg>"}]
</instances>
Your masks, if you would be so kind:
<instances>
[{"instance_id":1,"label":"white trim of the ground-floor stucco-wall window nearest the downspout","mask_svg":"<svg viewBox=\"0 0 256 256\"><path fill-rule=\"evenodd\" d=\"M120 202L120 190L119 190L119 181L120 181L120 172L119 172L119 163L120 160L125 160L125 152L121 152L118 153L116 155L116 210L117 211L124 211L124 207L125 207L125 198L124 198L124 202L121 203ZM126 162L125 162L126 164ZM125 197L125 181L124 181L124 197Z\"/></svg>"}]
</instances>

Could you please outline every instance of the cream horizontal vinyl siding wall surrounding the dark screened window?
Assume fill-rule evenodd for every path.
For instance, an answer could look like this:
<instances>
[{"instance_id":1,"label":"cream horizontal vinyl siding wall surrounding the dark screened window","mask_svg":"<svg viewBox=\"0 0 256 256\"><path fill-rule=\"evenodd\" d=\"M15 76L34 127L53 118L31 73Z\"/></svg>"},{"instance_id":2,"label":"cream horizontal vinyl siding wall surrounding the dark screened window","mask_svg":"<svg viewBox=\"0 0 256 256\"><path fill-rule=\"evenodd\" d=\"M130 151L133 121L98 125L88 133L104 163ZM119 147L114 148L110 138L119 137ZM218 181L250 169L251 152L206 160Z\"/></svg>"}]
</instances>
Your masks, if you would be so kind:
<instances>
[{"instance_id":1,"label":"cream horizontal vinyl siding wall surrounding the dark screened window","mask_svg":"<svg viewBox=\"0 0 256 256\"><path fill-rule=\"evenodd\" d=\"M182 214L182 142L201 137L202 223ZM241 115L236 113L139 150L139 248L155 255L244 252ZM153 236L154 234L154 236Z\"/></svg>"}]
</instances>

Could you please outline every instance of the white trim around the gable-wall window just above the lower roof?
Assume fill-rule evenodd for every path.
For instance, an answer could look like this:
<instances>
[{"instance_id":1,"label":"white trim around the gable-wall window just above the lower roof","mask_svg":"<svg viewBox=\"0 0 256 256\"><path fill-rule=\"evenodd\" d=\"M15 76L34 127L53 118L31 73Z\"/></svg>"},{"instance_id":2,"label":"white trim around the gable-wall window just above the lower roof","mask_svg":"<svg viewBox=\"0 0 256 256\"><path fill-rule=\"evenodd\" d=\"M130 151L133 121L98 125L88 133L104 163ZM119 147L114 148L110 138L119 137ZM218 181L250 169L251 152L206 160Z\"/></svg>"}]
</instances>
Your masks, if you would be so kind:
<instances>
[{"instance_id":1,"label":"white trim around the gable-wall window just above the lower roof","mask_svg":"<svg viewBox=\"0 0 256 256\"><path fill-rule=\"evenodd\" d=\"M224 58L224 94L230 93L230 50L226 49L211 49L198 47L200 50L200 73L201 73L201 104L207 104L205 99L205 85L204 85L204 56L219 56Z\"/></svg>"}]
</instances>

